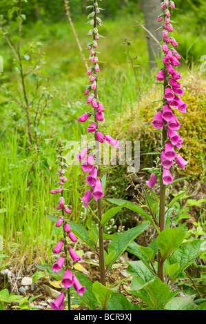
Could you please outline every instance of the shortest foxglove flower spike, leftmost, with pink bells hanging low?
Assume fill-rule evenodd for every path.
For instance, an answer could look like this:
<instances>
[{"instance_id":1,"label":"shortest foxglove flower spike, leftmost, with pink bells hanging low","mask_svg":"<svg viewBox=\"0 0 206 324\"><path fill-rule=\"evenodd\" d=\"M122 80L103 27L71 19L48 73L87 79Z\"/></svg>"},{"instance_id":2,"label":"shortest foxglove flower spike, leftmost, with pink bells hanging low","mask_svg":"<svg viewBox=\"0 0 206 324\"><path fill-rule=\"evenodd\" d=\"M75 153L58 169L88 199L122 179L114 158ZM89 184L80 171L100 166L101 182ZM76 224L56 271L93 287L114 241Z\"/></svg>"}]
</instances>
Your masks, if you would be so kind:
<instances>
[{"instance_id":1,"label":"shortest foxglove flower spike, leftmost, with pink bells hanging low","mask_svg":"<svg viewBox=\"0 0 206 324\"><path fill-rule=\"evenodd\" d=\"M63 197L63 186L64 183L67 181L65 177L66 169L68 168L68 165L65 163L65 157L63 154L63 145L61 143L61 140L57 143L57 149L56 151L58 154L56 155L56 164L59 163L59 167L57 169L56 175L59 176L59 183L61 186L58 189L52 190L51 194L61 194L59 198L59 205L57 205L56 209L61 210L61 216L59 217L59 220L56 222L56 227L61 227L63 229L63 238L59 241L59 243L56 244L54 247L53 253L59 254L59 258L57 259L56 263L52 265L52 270L54 273L60 272L63 268L65 268L63 272L63 278L61 281L61 284L65 289L69 289L72 285L74 286L74 289L80 296L83 295L85 292L85 287L81 285L81 283L76 279L76 276L72 272L72 266L71 268L69 265L71 265L73 262L80 261L81 257L73 250L72 247L68 247L68 241L70 240L71 244L77 242L77 238L72 232L72 229L70 227L69 221L65 219L65 214L70 214L71 210L68 208L68 205L65 205L65 198ZM87 156L88 150L84 150L79 154L78 158L79 160L83 159L85 156ZM63 300L65 298L65 291L63 291L54 302L51 303L51 307L53 310L64 310L65 305L63 305Z\"/></svg>"}]
</instances>

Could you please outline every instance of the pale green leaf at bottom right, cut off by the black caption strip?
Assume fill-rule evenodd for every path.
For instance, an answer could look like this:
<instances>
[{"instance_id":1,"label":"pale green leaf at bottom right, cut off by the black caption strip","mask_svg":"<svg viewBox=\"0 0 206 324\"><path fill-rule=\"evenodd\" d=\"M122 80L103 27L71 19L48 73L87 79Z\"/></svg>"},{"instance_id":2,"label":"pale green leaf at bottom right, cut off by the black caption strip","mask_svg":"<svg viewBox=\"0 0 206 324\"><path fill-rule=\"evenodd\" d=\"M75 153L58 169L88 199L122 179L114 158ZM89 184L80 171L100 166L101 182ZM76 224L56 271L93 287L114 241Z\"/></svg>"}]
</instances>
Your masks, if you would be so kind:
<instances>
[{"instance_id":1,"label":"pale green leaf at bottom right, cut off by the black caption strip","mask_svg":"<svg viewBox=\"0 0 206 324\"><path fill-rule=\"evenodd\" d=\"M165 310L194 310L194 296L174 297L165 305Z\"/></svg>"}]
</instances>

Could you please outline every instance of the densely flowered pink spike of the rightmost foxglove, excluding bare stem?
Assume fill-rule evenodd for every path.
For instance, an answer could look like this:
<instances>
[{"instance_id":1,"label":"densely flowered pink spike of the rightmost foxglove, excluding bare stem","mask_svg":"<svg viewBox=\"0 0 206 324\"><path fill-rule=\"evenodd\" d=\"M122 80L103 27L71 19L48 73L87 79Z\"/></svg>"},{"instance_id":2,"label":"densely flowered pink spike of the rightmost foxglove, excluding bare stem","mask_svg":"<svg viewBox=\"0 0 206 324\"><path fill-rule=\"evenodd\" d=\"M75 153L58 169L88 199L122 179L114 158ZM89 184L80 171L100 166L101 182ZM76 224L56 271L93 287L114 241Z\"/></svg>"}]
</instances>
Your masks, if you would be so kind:
<instances>
[{"instance_id":1,"label":"densely flowered pink spike of the rightmost foxglove, excluding bare stem","mask_svg":"<svg viewBox=\"0 0 206 324\"><path fill-rule=\"evenodd\" d=\"M167 141L164 143L163 151L161 152L161 165L163 167L163 183L164 185L169 185L173 181L173 176L169 168L174 165L174 161L183 170L188 163L180 154L176 153L176 149L181 149L183 139L177 133L181 123L178 122L174 113L175 110L179 110L182 114L185 114L187 103L181 99L184 91L181 89L181 83L177 81L181 79L181 74L175 70L180 65L179 60L181 56L175 49L178 43L171 34L173 32L173 26L170 23L171 13L169 10L175 8L174 1L163 1L161 8L163 13L158 17L157 21L163 24L163 68L158 72L156 79L158 81L164 81L165 91L163 108L156 112L152 125L157 130L167 127ZM153 188L154 184L155 178L154 174L152 174L150 181L147 181L147 185Z\"/></svg>"}]
</instances>

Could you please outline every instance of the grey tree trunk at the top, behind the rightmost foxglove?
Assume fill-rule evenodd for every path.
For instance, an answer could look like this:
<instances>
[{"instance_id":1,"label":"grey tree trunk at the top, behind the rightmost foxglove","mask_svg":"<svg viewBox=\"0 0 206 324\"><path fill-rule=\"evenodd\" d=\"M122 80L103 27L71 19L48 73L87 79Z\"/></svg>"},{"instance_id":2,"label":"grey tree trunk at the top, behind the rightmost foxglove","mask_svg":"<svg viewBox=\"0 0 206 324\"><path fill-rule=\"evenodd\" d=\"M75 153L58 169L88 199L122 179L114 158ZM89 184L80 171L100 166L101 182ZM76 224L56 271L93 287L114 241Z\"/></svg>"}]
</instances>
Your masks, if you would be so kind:
<instances>
[{"instance_id":1,"label":"grey tree trunk at the top, behind the rightmost foxglove","mask_svg":"<svg viewBox=\"0 0 206 324\"><path fill-rule=\"evenodd\" d=\"M161 14L161 0L143 0L143 12L145 15L145 27L154 37L161 41L163 38L161 23L157 22L159 14ZM159 28L159 29L158 29ZM147 34L147 45L150 57L150 68L156 68L156 60L161 57L161 49L158 43Z\"/></svg>"}]
</instances>

